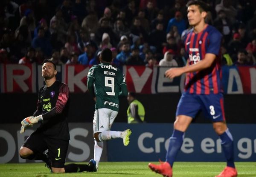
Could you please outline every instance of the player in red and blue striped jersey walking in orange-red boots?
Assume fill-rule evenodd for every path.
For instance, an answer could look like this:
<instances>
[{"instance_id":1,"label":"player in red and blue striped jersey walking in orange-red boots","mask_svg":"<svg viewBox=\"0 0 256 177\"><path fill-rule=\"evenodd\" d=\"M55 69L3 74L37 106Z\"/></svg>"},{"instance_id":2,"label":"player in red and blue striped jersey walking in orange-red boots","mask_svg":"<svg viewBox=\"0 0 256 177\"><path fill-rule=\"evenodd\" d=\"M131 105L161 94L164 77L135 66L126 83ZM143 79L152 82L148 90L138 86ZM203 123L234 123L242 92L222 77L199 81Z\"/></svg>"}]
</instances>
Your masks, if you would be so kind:
<instances>
[{"instance_id":1,"label":"player in red and blue striped jersey walking in orange-red boots","mask_svg":"<svg viewBox=\"0 0 256 177\"><path fill-rule=\"evenodd\" d=\"M166 71L170 79L186 73L185 88L177 106L174 131L166 153L166 162L160 165L150 163L153 171L172 177L172 165L183 143L184 132L198 111L212 121L213 128L221 138L221 146L227 160L224 171L216 177L236 177L233 137L227 128L224 115L224 101L221 89L221 33L204 22L207 4L200 0L187 3L189 30L185 37L188 54L187 65Z\"/></svg>"}]
</instances>

